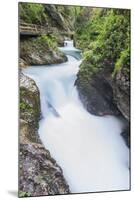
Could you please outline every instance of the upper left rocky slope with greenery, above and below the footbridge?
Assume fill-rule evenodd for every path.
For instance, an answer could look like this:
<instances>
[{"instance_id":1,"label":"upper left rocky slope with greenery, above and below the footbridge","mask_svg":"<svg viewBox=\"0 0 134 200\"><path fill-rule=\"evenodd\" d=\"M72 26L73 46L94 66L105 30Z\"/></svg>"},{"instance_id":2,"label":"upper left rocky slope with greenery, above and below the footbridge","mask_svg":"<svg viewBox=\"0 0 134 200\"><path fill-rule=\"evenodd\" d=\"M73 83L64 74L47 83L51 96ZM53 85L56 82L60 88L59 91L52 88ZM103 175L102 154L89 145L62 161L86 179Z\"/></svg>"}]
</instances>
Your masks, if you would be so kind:
<instances>
[{"instance_id":1,"label":"upper left rocky slope with greenery, above and below the footbridge","mask_svg":"<svg viewBox=\"0 0 134 200\"><path fill-rule=\"evenodd\" d=\"M21 66L66 62L67 57L57 47L63 46L65 38L71 37L75 10L71 6L22 2L19 9L20 22L41 25L46 30L41 36L20 35L20 58L26 63Z\"/></svg>"}]
</instances>

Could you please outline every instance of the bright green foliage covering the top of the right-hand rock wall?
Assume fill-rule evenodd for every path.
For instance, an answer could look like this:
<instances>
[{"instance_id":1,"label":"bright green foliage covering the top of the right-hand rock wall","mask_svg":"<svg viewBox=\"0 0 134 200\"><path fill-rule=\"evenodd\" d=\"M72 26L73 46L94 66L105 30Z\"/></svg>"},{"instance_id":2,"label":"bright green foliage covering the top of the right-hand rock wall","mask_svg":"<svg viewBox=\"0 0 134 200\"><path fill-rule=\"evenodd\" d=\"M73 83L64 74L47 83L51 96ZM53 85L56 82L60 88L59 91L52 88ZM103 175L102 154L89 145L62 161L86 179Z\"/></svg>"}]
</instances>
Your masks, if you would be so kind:
<instances>
[{"instance_id":1,"label":"bright green foliage covering the top of the right-hand rock wall","mask_svg":"<svg viewBox=\"0 0 134 200\"><path fill-rule=\"evenodd\" d=\"M80 73L91 76L108 68L114 76L122 67L129 72L130 11L92 9L84 23L76 32L77 45L85 51Z\"/></svg>"}]
</instances>

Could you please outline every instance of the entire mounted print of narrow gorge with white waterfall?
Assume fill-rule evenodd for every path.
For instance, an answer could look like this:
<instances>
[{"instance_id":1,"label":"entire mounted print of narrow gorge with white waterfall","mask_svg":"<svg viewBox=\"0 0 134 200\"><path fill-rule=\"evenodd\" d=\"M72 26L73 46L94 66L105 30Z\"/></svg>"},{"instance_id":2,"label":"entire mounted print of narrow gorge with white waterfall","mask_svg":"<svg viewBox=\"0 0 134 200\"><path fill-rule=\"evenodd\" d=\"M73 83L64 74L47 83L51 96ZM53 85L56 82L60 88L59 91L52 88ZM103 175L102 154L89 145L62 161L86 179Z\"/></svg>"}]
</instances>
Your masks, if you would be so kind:
<instances>
[{"instance_id":1,"label":"entire mounted print of narrow gorge with white waterfall","mask_svg":"<svg viewBox=\"0 0 134 200\"><path fill-rule=\"evenodd\" d=\"M129 190L129 10L19 6L19 196Z\"/></svg>"}]
</instances>

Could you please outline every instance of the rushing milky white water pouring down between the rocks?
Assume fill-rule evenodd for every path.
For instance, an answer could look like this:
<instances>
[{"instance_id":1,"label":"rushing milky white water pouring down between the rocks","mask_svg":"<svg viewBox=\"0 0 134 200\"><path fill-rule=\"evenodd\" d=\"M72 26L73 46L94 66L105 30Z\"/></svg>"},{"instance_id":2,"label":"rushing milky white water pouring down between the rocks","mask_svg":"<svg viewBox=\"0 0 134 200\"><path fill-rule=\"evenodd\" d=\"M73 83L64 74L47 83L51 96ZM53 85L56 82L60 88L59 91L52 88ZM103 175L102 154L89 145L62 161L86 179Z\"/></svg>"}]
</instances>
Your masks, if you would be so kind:
<instances>
[{"instance_id":1,"label":"rushing milky white water pouring down between the rocks","mask_svg":"<svg viewBox=\"0 0 134 200\"><path fill-rule=\"evenodd\" d=\"M68 56L67 63L24 70L40 90L39 135L72 193L127 190L129 150L120 136L123 124L83 108L74 87L80 62Z\"/></svg>"}]
</instances>

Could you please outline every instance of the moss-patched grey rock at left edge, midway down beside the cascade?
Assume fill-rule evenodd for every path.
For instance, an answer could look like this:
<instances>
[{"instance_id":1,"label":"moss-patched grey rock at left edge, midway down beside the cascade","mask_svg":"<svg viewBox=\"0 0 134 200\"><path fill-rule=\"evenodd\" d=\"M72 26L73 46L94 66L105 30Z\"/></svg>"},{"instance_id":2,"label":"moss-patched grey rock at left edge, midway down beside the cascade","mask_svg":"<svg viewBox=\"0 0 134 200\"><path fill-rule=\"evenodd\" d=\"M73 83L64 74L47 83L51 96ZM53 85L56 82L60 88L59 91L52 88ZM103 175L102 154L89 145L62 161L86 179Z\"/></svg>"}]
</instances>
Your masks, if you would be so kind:
<instances>
[{"instance_id":1,"label":"moss-patched grey rock at left edge, midway down beside the cascade","mask_svg":"<svg viewBox=\"0 0 134 200\"><path fill-rule=\"evenodd\" d=\"M40 119L40 93L35 82L20 73L20 118L30 127L29 137L38 135L38 121ZM36 132L36 136L35 136Z\"/></svg>"}]
</instances>

